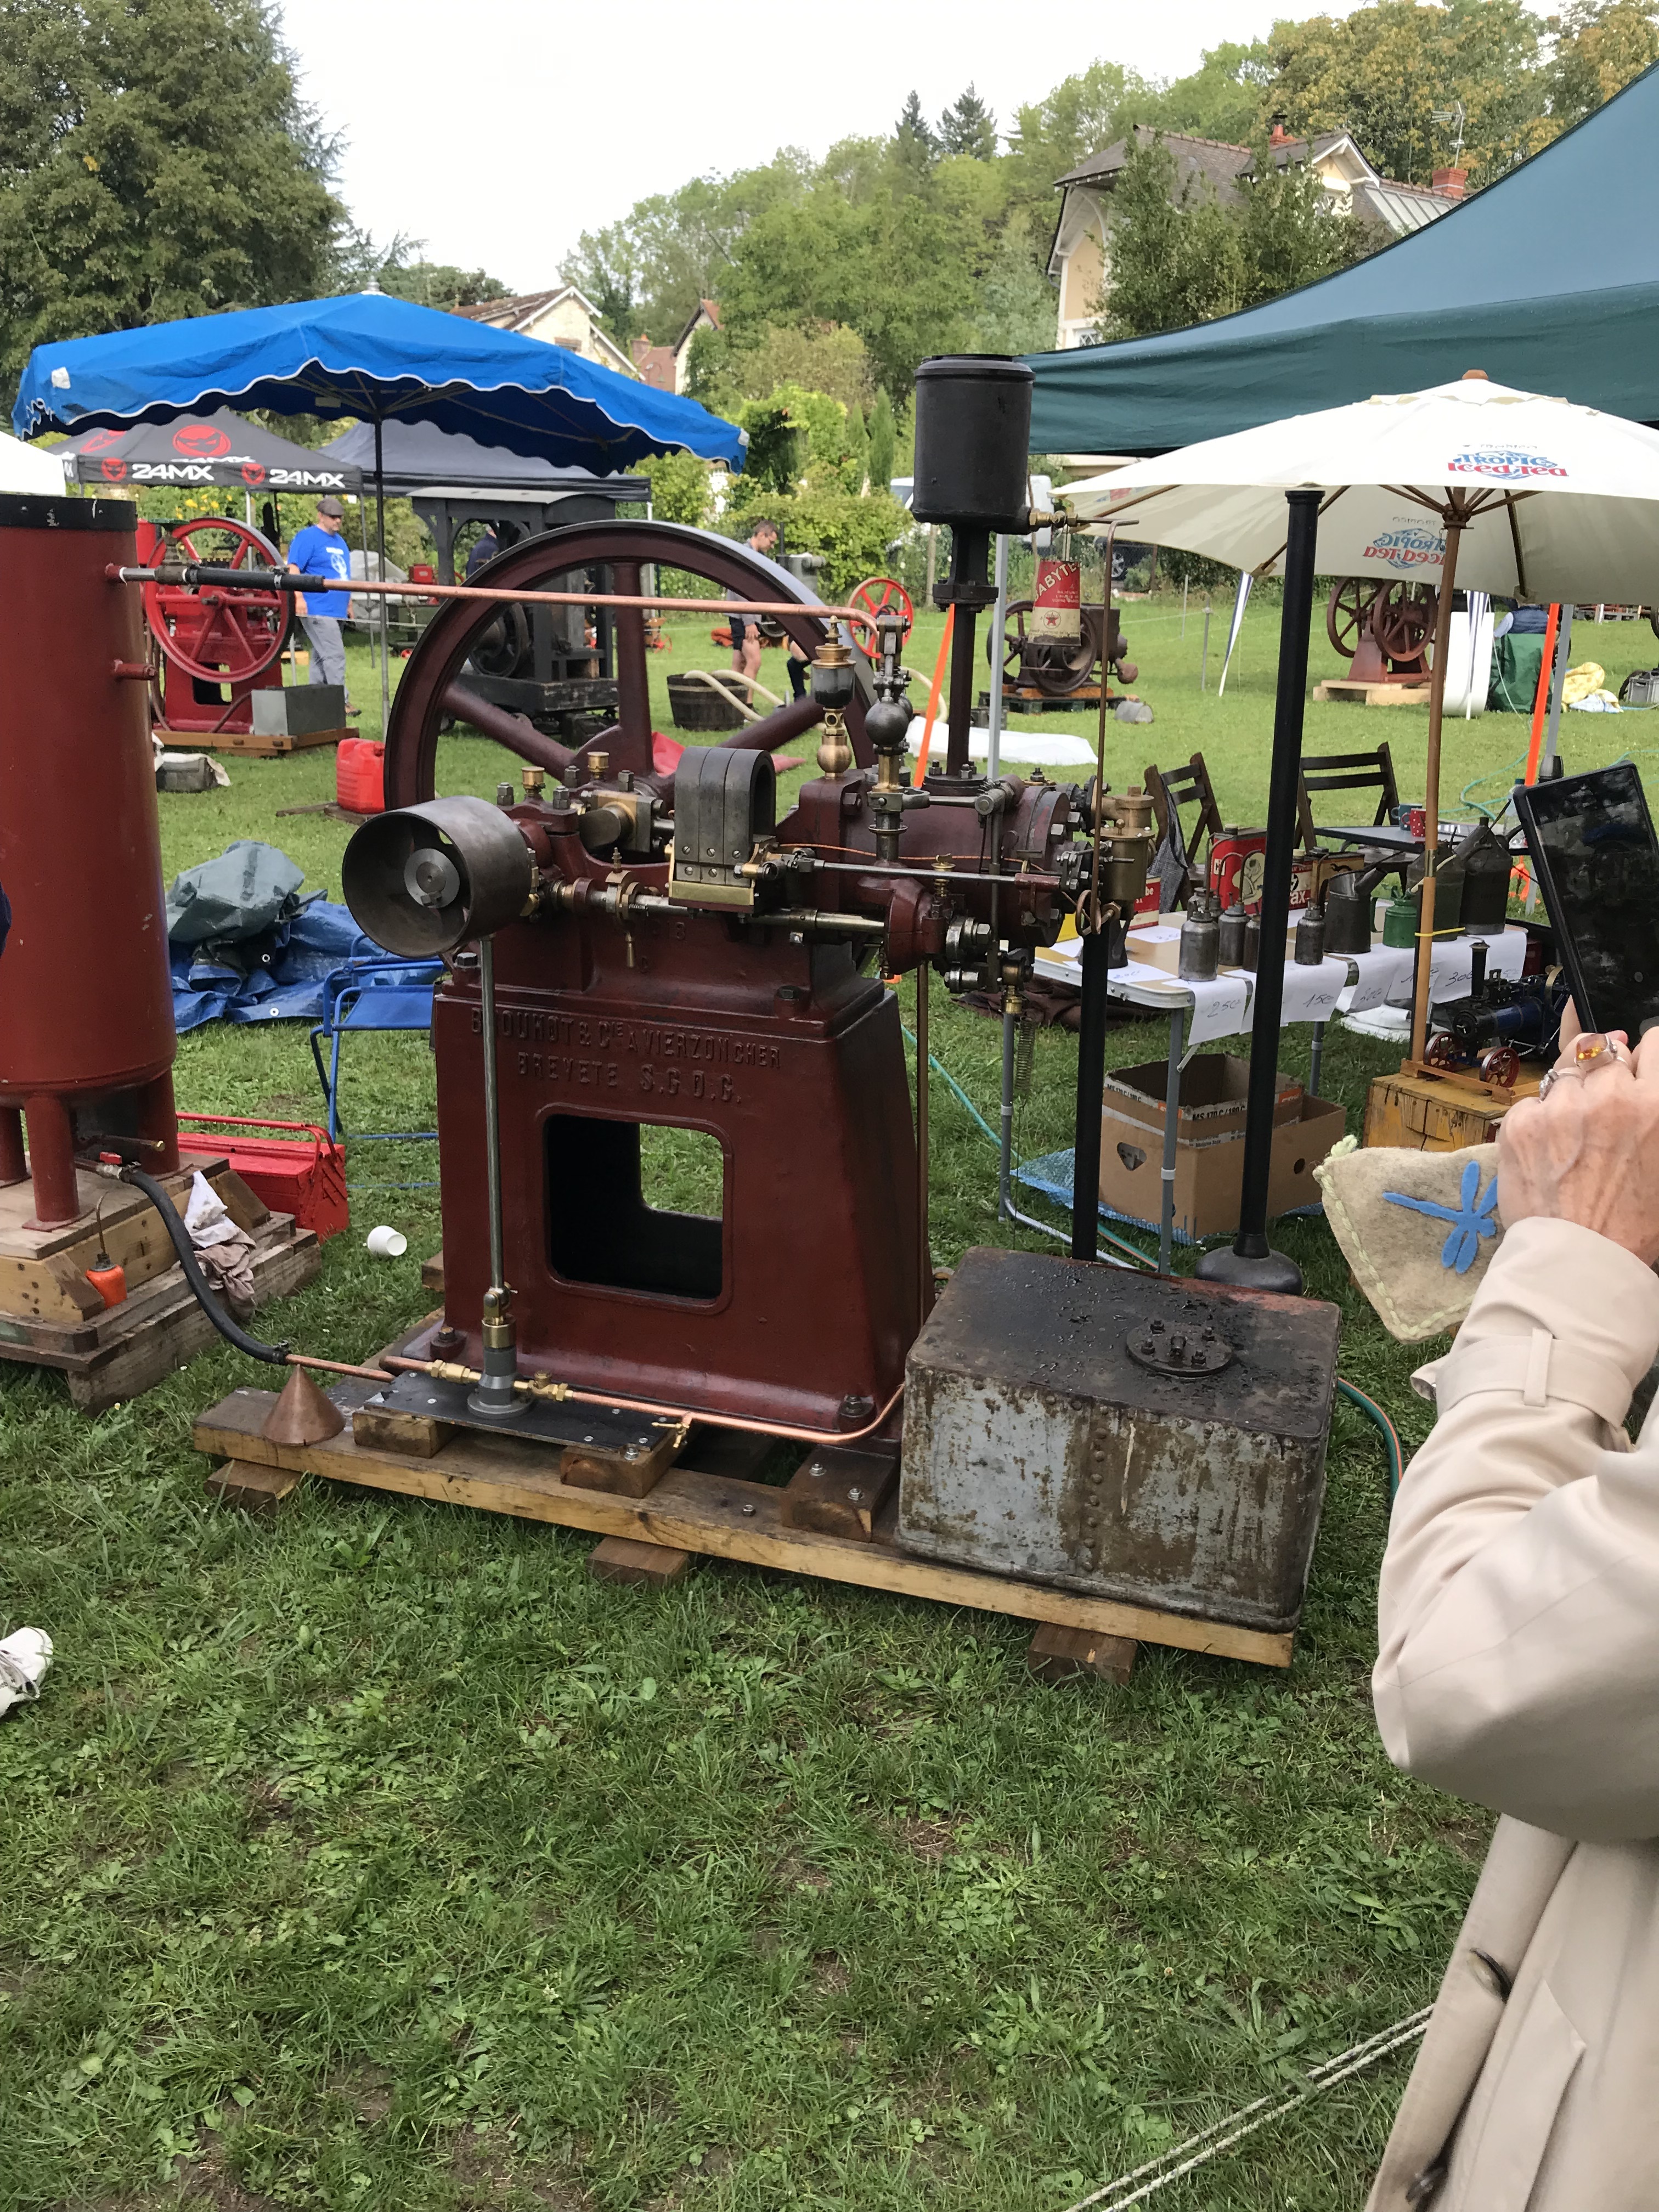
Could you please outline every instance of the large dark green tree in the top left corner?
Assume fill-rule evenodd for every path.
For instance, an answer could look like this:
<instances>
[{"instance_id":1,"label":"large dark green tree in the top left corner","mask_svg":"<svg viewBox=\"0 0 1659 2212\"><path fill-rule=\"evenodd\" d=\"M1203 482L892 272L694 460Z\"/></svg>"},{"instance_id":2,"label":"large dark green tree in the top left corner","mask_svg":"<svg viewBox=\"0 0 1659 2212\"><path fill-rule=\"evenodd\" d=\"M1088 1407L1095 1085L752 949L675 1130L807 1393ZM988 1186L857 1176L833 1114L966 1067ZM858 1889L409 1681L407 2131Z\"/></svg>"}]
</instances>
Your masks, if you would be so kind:
<instances>
[{"instance_id":1,"label":"large dark green tree in the top left corner","mask_svg":"<svg viewBox=\"0 0 1659 2212\"><path fill-rule=\"evenodd\" d=\"M0 0L0 369L327 290L332 166L268 0Z\"/></svg>"}]
</instances>

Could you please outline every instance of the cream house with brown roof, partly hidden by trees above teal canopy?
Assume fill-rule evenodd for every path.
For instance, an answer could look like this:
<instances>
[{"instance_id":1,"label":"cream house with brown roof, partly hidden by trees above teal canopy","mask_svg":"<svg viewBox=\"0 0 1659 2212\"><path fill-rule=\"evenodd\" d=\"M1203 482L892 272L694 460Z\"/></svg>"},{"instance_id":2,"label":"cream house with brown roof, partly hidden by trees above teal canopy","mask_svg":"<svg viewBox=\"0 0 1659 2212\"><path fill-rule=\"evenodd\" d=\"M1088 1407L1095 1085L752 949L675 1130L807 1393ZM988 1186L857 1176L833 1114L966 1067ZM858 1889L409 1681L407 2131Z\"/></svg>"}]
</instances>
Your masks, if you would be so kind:
<instances>
[{"instance_id":1,"label":"cream house with brown roof, partly hidden by trees above teal canopy","mask_svg":"<svg viewBox=\"0 0 1659 2212\"><path fill-rule=\"evenodd\" d=\"M1256 159L1250 146L1183 137L1179 131L1157 133L1148 124L1137 124L1128 137L1060 177L1055 184L1062 195L1060 219L1048 252L1048 274L1060 285L1057 349L1062 352L1093 341L1110 281L1110 197L1130 150L1148 146L1155 137L1161 137L1175 157L1177 192L1212 192L1223 208L1243 197L1239 184ZM1433 184L1396 184L1367 161L1347 131L1296 139L1274 124L1270 146L1281 168L1294 161L1314 170L1332 195L1334 215L1356 215L1383 232L1385 241L1402 239L1407 230L1422 230L1455 208L1469 175L1462 168L1438 168Z\"/></svg>"}]
</instances>

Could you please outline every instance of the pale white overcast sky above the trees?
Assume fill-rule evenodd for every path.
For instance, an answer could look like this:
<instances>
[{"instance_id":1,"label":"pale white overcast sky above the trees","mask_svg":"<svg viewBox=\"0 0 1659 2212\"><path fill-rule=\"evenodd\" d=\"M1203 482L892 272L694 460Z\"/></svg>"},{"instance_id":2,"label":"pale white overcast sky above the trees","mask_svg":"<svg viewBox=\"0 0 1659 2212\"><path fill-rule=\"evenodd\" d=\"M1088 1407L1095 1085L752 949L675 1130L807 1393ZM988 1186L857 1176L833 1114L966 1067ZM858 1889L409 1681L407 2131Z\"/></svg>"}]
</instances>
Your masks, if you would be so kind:
<instances>
[{"instance_id":1,"label":"pale white overcast sky above the trees","mask_svg":"<svg viewBox=\"0 0 1659 2212\"><path fill-rule=\"evenodd\" d=\"M1352 0L1327 4L1349 13ZM1110 58L1179 77L1259 38L1290 0L898 0L697 9L688 0L283 0L303 91L345 137L341 190L376 241L520 292L584 230L779 146L889 131L911 84L938 117L973 80L1013 111Z\"/></svg>"}]
</instances>

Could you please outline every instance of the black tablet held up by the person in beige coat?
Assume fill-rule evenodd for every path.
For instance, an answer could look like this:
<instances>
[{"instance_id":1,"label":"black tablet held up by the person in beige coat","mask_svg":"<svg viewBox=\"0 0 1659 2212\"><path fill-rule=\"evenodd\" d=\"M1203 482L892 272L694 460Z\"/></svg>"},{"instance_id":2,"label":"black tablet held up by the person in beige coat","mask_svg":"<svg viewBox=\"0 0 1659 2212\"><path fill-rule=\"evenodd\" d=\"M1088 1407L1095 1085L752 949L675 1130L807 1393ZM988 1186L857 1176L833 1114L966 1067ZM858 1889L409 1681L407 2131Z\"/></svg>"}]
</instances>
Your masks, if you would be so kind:
<instances>
[{"instance_id":1,"label":"black tablet held up by the person in beige coat","mask_svg":"<svg viewBox=\"0 0 1659 2212\"><path fill-rule=\"evenodd\" d=\"M1635 1044L1659 1022L1659 841L1637 770L1515 787L1537 887L1584 1029Z\"/></svg>"}]
</instances>

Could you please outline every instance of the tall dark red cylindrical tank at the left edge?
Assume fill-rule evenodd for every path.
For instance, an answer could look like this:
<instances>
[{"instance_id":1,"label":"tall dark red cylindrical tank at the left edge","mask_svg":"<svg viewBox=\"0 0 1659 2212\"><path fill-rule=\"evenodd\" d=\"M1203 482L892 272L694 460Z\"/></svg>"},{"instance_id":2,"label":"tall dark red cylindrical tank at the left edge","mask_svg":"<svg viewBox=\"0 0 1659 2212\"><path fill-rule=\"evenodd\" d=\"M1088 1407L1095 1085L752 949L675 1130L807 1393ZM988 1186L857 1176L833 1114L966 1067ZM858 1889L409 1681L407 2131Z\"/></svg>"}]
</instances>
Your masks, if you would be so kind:
<instances>
[{"instance_id":1,"label":"tall dark red cylindrical tank at the left edge","mask_svg":"<svg viewBox=\"0 0 1659 2212\"><path fill-rule=\"evenodd\" d=\"M144 608L126 500L0 495L0 1183L75 1221L75 1150L179 1164ZM24 1161L24 1121L29 1157Z\"/></svg>"}]
</instances>

